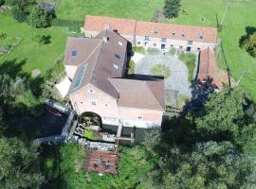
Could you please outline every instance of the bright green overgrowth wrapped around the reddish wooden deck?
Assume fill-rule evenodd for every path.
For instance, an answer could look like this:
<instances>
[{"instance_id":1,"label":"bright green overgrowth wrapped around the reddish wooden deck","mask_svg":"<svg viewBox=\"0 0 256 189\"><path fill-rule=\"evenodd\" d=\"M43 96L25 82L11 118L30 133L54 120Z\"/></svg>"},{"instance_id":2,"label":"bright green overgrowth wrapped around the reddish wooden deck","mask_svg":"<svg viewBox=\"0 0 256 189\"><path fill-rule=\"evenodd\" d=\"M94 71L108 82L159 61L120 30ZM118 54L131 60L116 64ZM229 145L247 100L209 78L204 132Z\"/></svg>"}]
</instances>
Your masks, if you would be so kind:
<instances>
[{"instance_id":1,"label":"bright green overgrowth wrapped around the reddish wooden deck","mask_svg":"<svg viewBox=\"0 0 256 189\"><path fill-rule=\"evenodd\" d=\"M51 149L51 150L49 150ZM148 152L143 146L121 147L119 176L86 173L82 164L86 153L77 144L44 146L42 163L46 173L44 188L135 188L153 164L146 160Z\"/></svg>"}]
</instances>

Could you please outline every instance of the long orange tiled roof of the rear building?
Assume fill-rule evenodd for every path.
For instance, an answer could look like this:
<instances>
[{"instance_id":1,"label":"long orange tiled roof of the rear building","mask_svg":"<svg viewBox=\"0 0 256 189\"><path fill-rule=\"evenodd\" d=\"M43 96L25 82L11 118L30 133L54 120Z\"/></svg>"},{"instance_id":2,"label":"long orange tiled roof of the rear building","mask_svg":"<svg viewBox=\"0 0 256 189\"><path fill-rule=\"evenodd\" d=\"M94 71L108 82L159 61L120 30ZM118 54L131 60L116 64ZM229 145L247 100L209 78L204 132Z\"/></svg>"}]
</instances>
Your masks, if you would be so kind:
<instances>
[{"instance_id":1,"label":"long orange tiled roof of the rear building","mask_svg":"<svg viewBox=\"0 0 256 189\"><path fill-rule=\"evenodd\" d=\"M169 38L202 43L216 43L217 40L217 28L214 27L150 23L91 15L85 17L84 30L100 32L104 26L109 26L113 30L117 29L120 34L126 35Z\"/></svg>"}]
</instances>

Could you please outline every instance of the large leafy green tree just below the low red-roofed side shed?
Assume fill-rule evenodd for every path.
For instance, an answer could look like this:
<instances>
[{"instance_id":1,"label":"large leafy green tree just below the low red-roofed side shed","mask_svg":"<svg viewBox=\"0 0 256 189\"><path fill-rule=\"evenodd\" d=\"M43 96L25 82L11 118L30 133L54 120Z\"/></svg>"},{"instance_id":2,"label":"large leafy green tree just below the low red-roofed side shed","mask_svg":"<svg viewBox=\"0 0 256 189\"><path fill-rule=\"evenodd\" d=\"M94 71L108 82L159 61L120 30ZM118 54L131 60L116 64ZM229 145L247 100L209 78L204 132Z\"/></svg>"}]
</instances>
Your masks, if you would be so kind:
<instances>
[{"instance_id":1,"label":"large leafy green tree just below the low red-roofed side shed","mask_svg":"<svg viewBox=\"0 0 256 189\"><path fill-rule=\"evenodd\" d=\"M226 86L221 92L212 94L198 112L193 112L192 119L202 136L238 142L243 130L251 128L247 106L247 95L242 89Z\"/></svg>"}]
</instances>

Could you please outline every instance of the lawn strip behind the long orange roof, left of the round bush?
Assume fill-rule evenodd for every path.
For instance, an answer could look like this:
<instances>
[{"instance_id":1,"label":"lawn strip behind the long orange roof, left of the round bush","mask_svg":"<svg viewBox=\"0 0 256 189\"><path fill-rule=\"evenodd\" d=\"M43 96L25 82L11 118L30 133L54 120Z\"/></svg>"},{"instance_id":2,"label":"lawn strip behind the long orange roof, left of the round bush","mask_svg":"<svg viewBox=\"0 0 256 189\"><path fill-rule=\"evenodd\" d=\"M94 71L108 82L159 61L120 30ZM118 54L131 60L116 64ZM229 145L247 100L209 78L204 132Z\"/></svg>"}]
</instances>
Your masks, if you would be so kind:
<instances>
[{"instance_id":1,"label":"lawn strip behind the long orange roof, left of the round bush","mask_svg":"<svg viewBox=\"0 0 256 189\"><path fill-rule=\"evenodd\" d=\"M86 14L151 21L163 0L58 0L57 14L64 20L83 22Z\"/></svg>"}]
</instances>

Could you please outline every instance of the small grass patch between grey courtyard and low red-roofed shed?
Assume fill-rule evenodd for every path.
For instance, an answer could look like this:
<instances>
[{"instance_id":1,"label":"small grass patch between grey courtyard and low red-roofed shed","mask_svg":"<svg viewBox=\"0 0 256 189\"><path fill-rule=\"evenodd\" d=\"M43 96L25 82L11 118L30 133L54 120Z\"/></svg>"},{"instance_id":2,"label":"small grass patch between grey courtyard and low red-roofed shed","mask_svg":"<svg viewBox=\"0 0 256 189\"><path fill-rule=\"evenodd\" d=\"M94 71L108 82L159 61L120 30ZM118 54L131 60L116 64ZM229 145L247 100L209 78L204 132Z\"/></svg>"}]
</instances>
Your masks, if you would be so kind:
<instances>
[{"instance_id":1,"label":"small grass patch between grey courtyard and low red-roofed shed","mask_svg":"<svg viewBox=\"0 0 256 189\"><path fill-rule=\"evenodd\" d=\"M193 82L193 75L194 75L194 69L195 69L195 60L196 60L196 55L193 53L182 53L179 57L179 60L183 61L188 70L189 70L189 80Z\"/></svg>"}]
</instances>

